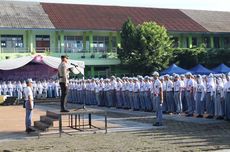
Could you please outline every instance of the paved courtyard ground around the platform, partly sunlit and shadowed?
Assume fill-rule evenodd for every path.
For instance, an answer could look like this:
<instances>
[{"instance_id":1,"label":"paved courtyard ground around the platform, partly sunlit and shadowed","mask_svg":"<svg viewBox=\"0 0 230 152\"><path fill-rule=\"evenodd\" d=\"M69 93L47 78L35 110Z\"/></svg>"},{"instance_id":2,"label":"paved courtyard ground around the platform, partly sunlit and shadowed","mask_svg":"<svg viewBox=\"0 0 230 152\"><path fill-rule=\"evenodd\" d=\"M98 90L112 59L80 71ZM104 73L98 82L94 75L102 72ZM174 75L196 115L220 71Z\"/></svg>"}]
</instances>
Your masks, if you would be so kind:
<instances>
[{"instance_id":1,"label":"paved courtyard ground around the platform, partly sunlit and shadowed","mask_svg":"<svg viewBox=\"0 0 230 152\"><path fill-rule=\"evenodd\" d=\"M44 110L57 107L55 104L38 105L34 119L44 114ZM152 127L152 113L107 110L111 125L108 134L75 132L64 134L62 138L48 135L37 139L23 132L24 109L21 106L0 107L0 151L177 152L230 149L229 122L166 115L164 127ZM95 119L101 121L102 117L96 116Z\"/></svg>"}]
</instances>

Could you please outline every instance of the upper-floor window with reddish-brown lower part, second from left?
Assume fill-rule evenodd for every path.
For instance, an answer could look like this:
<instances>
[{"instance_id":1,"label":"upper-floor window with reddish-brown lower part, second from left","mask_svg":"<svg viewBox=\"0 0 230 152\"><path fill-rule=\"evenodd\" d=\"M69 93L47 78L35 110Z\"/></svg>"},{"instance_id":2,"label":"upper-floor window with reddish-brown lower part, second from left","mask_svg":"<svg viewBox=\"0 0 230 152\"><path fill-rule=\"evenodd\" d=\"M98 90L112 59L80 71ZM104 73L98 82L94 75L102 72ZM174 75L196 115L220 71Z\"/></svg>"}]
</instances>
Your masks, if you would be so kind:
<instances>
[{"instance_id":1,"label":"upper-floor window with reddish-brown lower part, second from left","mask_svg":"<svg viewBox=\"0 0 230 152\"><path fill-rule=\"evenodd\" d=\"M36 51L43 53L50 50L50 36L49 35L36 35Z\"/></svg>"}]
</instances>

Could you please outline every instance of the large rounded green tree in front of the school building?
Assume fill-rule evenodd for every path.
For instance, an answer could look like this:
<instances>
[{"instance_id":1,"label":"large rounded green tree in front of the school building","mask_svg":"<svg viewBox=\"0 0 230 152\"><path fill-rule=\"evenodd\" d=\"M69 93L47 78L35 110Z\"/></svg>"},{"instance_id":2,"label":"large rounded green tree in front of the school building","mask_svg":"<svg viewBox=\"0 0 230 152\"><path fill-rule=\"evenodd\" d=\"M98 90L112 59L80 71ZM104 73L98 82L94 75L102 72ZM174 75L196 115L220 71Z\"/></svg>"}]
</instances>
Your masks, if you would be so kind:
<instances>
[{"instance_id":1,"label":"large rounded green tree in front of the school building","mask_svg":"<svg viewBox=\"0 0 230 152\"><path fill-rule=\"evenodd\" d=\"M150 74L168 66L172 41L167 30L155 22L134 26L128 20L122 27L121 40L122 48L118 54L121 62L128 64L132 73Z\"/></svg>"}]
</instances>

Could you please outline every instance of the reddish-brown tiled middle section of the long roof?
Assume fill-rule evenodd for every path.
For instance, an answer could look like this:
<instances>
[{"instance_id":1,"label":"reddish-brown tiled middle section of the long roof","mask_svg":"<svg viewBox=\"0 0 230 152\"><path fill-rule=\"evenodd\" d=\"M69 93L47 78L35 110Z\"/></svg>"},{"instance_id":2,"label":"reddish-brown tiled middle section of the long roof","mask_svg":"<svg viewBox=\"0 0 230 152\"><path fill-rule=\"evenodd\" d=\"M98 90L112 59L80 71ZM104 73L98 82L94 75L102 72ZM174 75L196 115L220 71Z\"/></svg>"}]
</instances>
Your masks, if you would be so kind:
<instances>
[{"instance_id":1,"label":"reddish-brown tiled middle section of the long roof","mask_svg":"<svg viewBox=\"0 0 230 152\"><path fill-rule=\"evenodd\" d=\"M53 3L42 3L42 7L58 29L120 30L122 24L131 18L136 24L155 21L169 31L207 32L178 9Z\"/></svg>"}]
</instances>

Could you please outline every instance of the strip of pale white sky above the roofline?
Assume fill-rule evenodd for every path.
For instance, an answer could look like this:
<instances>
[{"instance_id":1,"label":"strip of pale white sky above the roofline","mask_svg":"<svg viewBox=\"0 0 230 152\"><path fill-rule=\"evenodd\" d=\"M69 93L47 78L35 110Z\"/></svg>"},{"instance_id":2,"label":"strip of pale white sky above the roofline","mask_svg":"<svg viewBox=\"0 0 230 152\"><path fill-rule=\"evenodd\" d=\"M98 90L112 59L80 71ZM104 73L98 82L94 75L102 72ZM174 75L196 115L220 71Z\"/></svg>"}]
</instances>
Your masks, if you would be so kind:
<instances>
[{"instance_id":1,"label":"strip of pale white sky above the roofline","mask_svg":"<svg viewBox=\"0 0 230 152\"><path fill-rule=\"evenodd\" d=\"M3 1L3 0L0 0ZM9 1L9 0L8 0ZM134 7L230 11L230 0L14 0Z\"/></svg>"}]
</instances>

